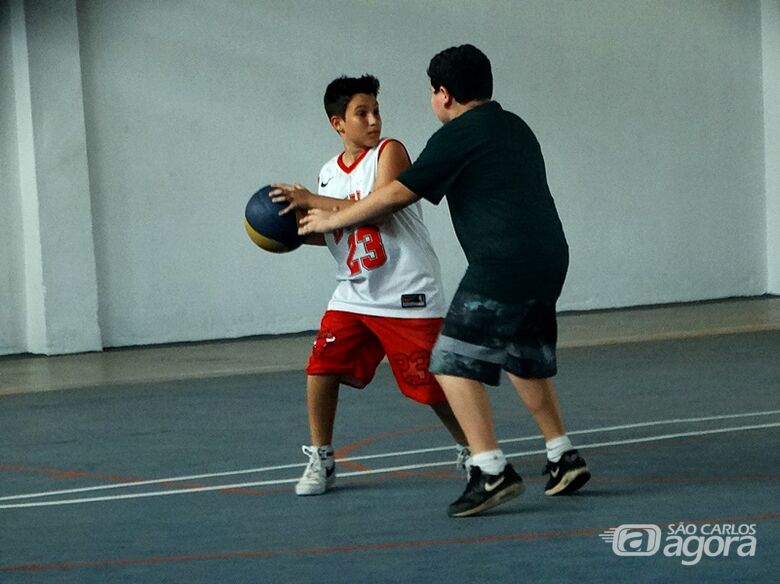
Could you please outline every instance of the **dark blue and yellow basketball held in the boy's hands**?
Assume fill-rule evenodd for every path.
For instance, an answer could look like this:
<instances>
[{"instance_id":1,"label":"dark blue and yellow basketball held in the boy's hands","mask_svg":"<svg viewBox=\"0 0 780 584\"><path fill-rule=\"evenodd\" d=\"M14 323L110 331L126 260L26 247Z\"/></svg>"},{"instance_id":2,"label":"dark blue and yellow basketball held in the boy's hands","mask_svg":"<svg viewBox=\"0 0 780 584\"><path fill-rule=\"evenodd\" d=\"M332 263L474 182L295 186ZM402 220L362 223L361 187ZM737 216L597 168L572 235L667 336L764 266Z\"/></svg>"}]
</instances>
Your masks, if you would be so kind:
<instances>
[{"instance_id":1,"label":"dark blue and yellow basketball held in the boy's hands","mask_svg":"<svg viewBox=\"0 0 780 584\"><path fill-rule=\"evenodd\" d=\"M244 228L249 238L259 247L273 253L286 253L297 249L304 237L298 235L297 213L279 215L286 203L274 203L264 186L249 199L244 211Z\"/></svg>"}]
</instances>

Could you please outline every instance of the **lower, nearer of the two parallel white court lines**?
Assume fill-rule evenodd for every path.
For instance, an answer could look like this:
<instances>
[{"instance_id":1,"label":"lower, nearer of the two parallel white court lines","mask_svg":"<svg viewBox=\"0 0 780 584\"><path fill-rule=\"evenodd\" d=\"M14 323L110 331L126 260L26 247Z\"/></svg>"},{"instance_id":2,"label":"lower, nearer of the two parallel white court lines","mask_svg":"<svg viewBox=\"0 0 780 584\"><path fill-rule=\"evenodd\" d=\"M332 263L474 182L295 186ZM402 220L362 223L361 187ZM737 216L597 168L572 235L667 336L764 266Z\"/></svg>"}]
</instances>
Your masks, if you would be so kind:
<instances>
[{"instance_id":1,"label":"lower, nearer of the two parallel white court lines","mask_svg":"<svg viewBox=\"0 0 780 584\"><path fill-rule=\"evenodd\" d=\"M594 442L591 444L581 444L578 445L578 448L605 448L608 446L620 446L624 444L638 444L642 442L654 442L654 441L660 441L660 440L672 440L675 438L688 438L688 437L694 437L694 436L706 436L710 434L723 434L727 432L744 432L749 430L762 430L766 428L780 428L780 422L775 423L769 423L769 424L755 424L751 426L736 426L731 428L716 428L714 430L700 430L698 432L678 432L675 434L660 434L657 436L645 436L643 438L628 438L624 440L613 440L610 442ZM524 452L513 452L507 454L507 458L518 458L521 456L534 456L537 454L542 454L546 452L544 449L542 450L529 450ZM372 475L372 474L381 474L381 473L392 473L392 472L400 472L400 471L408 471L408 470L419 470L423 468L434 468L438 466L449 466L452 464L452 461L446 461L446 462L431 462L431 463L422 463L422 464L410 464L410 465L404 465L404 466L395 466L395 467L385 467L385 468L375 468L370 470L360 470L360 471L351 471L351 472L344 472L339 473L340 477L351 477L351 476L365 476L365 475ZM143 497L164 497L168 495L184 495L188 493L202 493L207 491L222 491L222 490L229 490L229 489L244 489L249 487L260 487L260 486L272 486L272 485L283 485L283 484L289 484L297 482L298 478L292 478L292 479L278 479L278 480L270 480L270 481L254 481L254 482L248 482L248 483L234 483L229 485L212 485L208 487L191 487L191 488L183 488L183 489L173 489L173 490L167 490L167 491L153 491L153 492L147 492L147 493L128 493L124 495L110 495L110 496L104 496L104 497L88 497L88 498L82 498L82 499L62 499L62 500L56 500L56 501L39 501L35 503L13 503L10 505L0 505L0 509L20 509L20 508L28 508L28 507L50 507L55 505L74 505L74 504L80 504L80 503L95 503L99 501L118 501L122 499L140 499ZM130 483L132 485L135 485L137 483ZM23 495L19 495L18 497L24 497ZM7 500L7 498L6 498Z\"/></svg>"}]
</instances>

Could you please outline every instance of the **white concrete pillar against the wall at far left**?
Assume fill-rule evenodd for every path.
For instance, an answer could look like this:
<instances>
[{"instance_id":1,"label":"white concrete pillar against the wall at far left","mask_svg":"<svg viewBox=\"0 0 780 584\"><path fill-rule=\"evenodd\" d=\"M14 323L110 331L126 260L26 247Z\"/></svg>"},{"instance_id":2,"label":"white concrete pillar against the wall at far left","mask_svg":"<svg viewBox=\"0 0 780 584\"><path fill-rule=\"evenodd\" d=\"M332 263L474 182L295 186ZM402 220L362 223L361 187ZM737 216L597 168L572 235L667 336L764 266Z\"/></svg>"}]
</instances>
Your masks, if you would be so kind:
<instances>
[{"instance_id":1,"label":"white concrete pillar against the wall at far left","mask_svg":"<svg viewBox=\"0 0 780 584\"><path fill-rule=\"evenodd\" d=\"M76 1L10 15L27 350L100 350Z\"/></svg>"}]
</instances>

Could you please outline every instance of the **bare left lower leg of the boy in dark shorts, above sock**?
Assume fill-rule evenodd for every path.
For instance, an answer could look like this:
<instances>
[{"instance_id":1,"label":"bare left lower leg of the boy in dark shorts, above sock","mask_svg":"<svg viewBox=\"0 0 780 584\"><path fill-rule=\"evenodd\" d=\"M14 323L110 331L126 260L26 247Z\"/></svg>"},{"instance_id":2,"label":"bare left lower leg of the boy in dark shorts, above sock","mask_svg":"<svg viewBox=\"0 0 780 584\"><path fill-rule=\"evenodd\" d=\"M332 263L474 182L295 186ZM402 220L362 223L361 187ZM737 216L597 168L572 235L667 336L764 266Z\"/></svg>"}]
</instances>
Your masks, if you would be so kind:
<instances>
[{"instance_id":1,"label":"bare left lower leg of the boy in dark shorts, above sock","mask_svg":"<svg viewBox=\"0 0 780 584\"><path fill-rule=\"evenodd\" d=\"M485 387L479 381L451 375L437 375L436 380L466 434L472 454L496 450L493 412Z\"/></svg>"}]
</instances>

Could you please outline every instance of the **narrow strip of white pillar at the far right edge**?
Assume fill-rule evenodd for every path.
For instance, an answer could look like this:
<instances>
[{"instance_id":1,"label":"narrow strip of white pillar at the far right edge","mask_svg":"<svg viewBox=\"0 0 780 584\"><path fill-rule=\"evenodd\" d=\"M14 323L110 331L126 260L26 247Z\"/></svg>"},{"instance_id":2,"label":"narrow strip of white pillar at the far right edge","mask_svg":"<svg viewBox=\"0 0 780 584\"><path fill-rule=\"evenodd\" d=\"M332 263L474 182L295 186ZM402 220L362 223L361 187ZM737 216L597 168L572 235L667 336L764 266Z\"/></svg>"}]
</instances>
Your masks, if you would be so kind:
<instances>
[{"instance_id":1,"label":"narrow strip of white pillar at the far right edge","mask_svg":"<svg viewBox=\"0 0 780 584\"><path fill-rule=\"evenodd\" d=\"M767 290L780 294L780 0L762 0Z\"/></svg>"}]
</instances>

